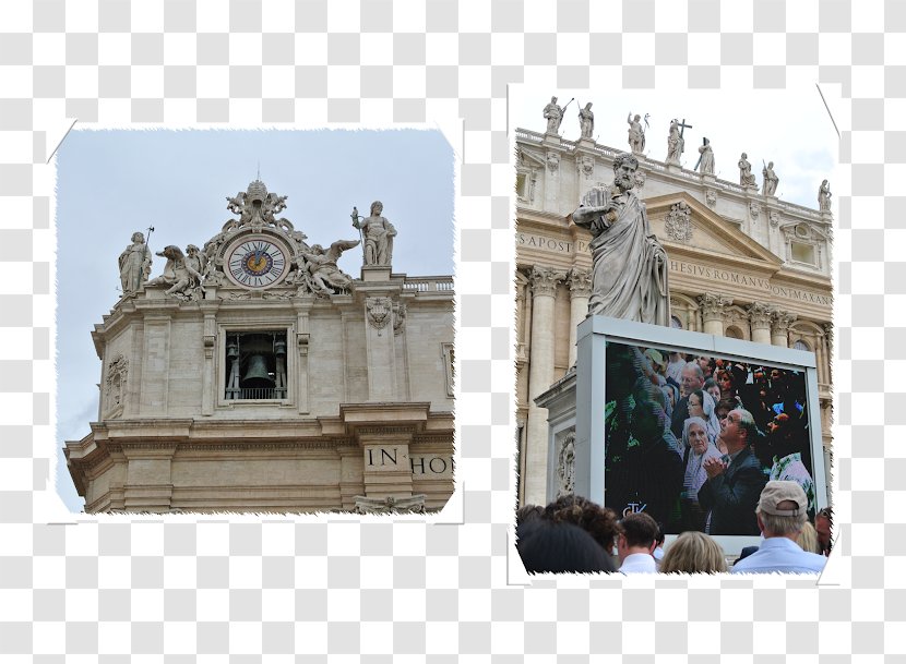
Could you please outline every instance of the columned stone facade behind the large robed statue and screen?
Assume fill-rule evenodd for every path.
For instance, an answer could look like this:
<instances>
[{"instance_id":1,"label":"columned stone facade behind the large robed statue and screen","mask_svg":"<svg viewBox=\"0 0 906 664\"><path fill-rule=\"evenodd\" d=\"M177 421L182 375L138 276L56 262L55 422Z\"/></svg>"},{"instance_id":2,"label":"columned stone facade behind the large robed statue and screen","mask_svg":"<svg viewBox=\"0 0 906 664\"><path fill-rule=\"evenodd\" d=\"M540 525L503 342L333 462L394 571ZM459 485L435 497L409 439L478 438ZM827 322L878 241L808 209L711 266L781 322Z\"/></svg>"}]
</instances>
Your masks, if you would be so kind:
<instances>
[{"instance_id":1,"label":"columned stone facade behind the large robed statue and screen","mask_svg":"<svg viewBox=\"0 0 906 664\"><path fill-rule=\"evenodd\" d=\"M571 221L622 150L516 130L518 497L545 502L547 410L534 399L575 363L591 295L591 234ZM672 325L812 351L830 452L830 210L636 155L636 192L668 255ZM818 185L818 183L815 183ZM818 186L815 186L818 190Z\"/></svg>"}]
</instances>

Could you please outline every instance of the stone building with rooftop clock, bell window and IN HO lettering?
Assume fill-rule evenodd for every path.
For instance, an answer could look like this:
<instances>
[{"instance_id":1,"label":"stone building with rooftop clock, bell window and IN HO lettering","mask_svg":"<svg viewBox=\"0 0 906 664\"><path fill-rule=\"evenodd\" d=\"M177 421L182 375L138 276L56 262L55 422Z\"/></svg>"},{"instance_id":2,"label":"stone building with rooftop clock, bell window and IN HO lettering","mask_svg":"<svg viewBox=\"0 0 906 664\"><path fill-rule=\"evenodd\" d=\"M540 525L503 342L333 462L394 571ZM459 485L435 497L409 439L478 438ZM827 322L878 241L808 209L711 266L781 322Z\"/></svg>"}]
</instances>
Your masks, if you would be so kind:
<instances>
[{"instance_id":1,"label":"stone building with rooftop clock, bell window and IN HO lettering","mask_svg":"<svg viewBox=\"0 0 906 664\"><path fill-rule=\"evenodd\" d=\"M92 333L98 418L64 448L85 511L442 507L452 277L388 263L353 279L336 258L358 242L309 246L262 182L230 205L203 251L168 246L164 276Z\"/></svg>"}]
</instances>

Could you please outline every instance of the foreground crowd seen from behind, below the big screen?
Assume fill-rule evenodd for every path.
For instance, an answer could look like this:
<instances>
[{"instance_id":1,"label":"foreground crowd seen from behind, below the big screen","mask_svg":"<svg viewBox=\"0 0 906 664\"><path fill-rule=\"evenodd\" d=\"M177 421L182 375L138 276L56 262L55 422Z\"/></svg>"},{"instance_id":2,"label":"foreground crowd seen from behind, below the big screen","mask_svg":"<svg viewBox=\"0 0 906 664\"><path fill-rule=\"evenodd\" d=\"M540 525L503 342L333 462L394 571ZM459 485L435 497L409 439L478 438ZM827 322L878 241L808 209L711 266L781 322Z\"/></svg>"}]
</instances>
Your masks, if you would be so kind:
<instances>
[{"instance_id":1,"label":"foreground crowd seen from behind, below the big screen","mask_svg":"<svg viewBox=\"0 0 906 664\"><path fill-rule=\"evenodd\" d=\"M644 511L620 518L613 509L575 495L516 514L516 548L527 571L629 574L818 574L831 552L831 511L812 521L799 483L770 481L753 518L759 546L743 548L728 568L720 545L698 530L664 546L664 524Z\"/></svg>"}]
</instances>

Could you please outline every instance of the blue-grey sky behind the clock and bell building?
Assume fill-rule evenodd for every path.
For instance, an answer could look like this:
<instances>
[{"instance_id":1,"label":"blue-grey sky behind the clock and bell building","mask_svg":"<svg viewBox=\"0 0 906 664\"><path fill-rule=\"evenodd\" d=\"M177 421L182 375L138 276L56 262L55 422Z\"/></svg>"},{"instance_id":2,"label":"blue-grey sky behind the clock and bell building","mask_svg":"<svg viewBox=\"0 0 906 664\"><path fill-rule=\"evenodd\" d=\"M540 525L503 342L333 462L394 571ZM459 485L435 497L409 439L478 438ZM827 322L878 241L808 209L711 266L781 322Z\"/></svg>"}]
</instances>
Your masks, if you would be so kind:
<instances>
[{"instance_id":1,"label":"blue-grey sky behind the clock and bell building","mask_svg":"<svg viewBox=\"0 0 906 664\"><path fill-rule=\"evenodd\" d=\"M380 200L396 228L393 271L453 275L454 153L440 131L78 131L57 153L57 486L81 511L62 447L97 420L100 360L91 333L120 297L120 253L154 227L152 252L203 246L235 217L226 197L259 174L288 196L286 217L329 246L355 240L353 206L368 216ZM154 257L151 277L165 258ZM341 269L358 278L360 246Z\"/></svg>"}]
</instances>

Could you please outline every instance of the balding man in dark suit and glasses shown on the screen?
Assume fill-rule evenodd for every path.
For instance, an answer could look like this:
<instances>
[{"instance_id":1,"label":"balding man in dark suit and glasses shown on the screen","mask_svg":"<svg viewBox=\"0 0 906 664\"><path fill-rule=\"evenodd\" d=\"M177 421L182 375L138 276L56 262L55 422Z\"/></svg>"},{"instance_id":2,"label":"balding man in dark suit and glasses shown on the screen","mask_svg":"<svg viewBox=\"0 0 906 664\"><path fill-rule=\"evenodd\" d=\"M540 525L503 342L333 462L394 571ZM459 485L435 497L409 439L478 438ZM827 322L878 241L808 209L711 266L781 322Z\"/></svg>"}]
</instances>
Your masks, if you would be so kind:
<instances>
[{"instance_id":1,"label":"balding man in dark suit and glasses shown on the screen","mask_svg":"<svg viewBox=\"0 0 906 664\"><path fill-rule=\"evenodd\" d=\"M713 535L756 535L755 507L767 483L749 444L758 436L752 413L737 408L720 421L723 459L704 462L707 480L699 490L699 504L708 511L705 532Z\"/></svg>"}]
</instances>

